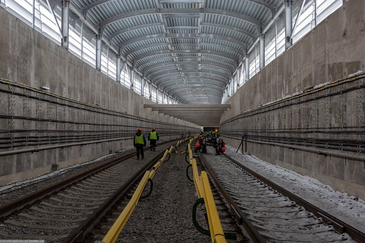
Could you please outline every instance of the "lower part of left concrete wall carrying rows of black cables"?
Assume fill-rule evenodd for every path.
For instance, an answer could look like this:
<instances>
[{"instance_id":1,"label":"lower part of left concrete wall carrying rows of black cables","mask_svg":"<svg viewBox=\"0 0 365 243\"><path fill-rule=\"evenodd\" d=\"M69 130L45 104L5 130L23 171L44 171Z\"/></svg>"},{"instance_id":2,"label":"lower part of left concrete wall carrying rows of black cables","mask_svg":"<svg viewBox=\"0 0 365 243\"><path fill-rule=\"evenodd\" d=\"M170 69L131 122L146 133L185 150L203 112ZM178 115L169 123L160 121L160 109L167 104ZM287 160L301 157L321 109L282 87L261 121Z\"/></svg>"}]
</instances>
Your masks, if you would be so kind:
<instances>
[{"instance_id":1,"label":"lower part of left concrete wall carrying rows of black cables","mask_svg":"<svg viewBox=\"0 0 365 243\"><path fill-rule=\"evenodd\" d=\"M130 148L137 128L142 128L146 138L156 128L160 141L200 131L193 124L181 125L183 121L169 122L177 121L171 117L157 121L7 79L0 79L0 97L0 160L4 166L0 176L32 169L26 177L20 177L24 179L50 171L43 168L36 172L35 168L43 167L43 163L65 166L109 150ZM1 182L9 181L4 177Z\"/></svg>"}]
</instances>

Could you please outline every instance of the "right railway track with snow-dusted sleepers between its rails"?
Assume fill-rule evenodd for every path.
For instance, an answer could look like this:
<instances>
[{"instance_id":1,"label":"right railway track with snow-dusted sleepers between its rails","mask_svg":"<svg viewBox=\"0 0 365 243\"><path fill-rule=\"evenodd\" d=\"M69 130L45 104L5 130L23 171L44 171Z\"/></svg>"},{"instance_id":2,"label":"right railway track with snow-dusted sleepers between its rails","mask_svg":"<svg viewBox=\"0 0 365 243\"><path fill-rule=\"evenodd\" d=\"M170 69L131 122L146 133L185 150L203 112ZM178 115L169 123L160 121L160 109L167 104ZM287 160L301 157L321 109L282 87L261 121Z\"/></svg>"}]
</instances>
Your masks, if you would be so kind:
<instances>
[{"instance_id":1,"label":"right railway track with snow-dusted sleepers between its rails","mask_svg":"<svg viewBox=\"0 0 365 243\"><path fill-rule=\"evenodd\" d=\"M199 153L212 180L255 243L365 242L365 234L250 171L231 157Z\"/></svg>"}]
</instances>

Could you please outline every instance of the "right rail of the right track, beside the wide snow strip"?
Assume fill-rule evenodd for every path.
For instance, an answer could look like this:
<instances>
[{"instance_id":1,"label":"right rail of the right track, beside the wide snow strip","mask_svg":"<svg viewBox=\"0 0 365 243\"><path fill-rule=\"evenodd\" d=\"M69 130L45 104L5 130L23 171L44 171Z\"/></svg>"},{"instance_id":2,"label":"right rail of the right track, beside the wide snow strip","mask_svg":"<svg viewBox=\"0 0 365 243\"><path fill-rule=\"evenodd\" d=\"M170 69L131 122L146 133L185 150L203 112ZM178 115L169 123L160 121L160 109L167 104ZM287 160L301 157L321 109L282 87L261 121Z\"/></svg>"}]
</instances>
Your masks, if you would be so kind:
<instances>
[{"instance_id":1,"label":"right rail of the right track, beside the wide snow strip","mask_svg":"<svg viewBox=\"0 0 365 243\"><path fill-rule=\"evenodd\" d=\"M250 173L251 175L256 177L258 180L261 180L263 183L267 184L269 187L271 187L274 190L278 191L279 193L283 194L285 197L288 197L290 200L295 201L298 205L300 205L301 207L304 207L307 211L313 213L315 216L321 217L325 224L332 225L334 227L335 231L337 231L339 234L347 233L352 239L354 239L358 242L365 242L365 233L364 232L357 230L356 228L350 226L349 224L346 224L342 220L337 219L335 216L331 215L330 213L323 211L322 209L316 207L315 205L313 205L313 204L309 203L308 201L302 199L301 197L295 195L294 193L289 192L287 189L273 183L272 181L261 176L260 174L254 172L253 170L240 164L238 161L234 160L227 154L224 154L224 153L222 153L222 154L228 160L230 160L231 162L233 162L235 165L239 166L241 169L245 170L246 172ZM199 155L202 158L200 153L199 153ZM203 159L202 159L202 161L203 161ZM205 165L205 168L207 168L207 170L209 171L210 176L212 178L215 178L214 174L211 173L207 164L205 164L204 161L203 161L203 163ZM214 181L216 184L218 183L220 185L218 180L215 179ZM222 187L222 186L220 185L220 187ZM222 189L223 189L223 187L222 187Z\"/></svg>"}]
</instances>

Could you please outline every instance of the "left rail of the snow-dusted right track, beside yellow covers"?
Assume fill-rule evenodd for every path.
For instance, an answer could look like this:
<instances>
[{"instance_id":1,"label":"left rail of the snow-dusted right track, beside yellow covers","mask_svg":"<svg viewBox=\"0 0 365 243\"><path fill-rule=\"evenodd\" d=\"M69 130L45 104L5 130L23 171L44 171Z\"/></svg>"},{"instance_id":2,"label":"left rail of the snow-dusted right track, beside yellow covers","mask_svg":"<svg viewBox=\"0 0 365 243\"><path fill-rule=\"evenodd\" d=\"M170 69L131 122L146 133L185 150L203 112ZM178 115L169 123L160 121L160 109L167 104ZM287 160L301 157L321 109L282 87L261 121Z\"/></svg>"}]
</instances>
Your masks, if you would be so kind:
<instances>
[{"instance_id":1,"label":"left rail of the snow-dusted right track, beside yellow covers","mask_svg":"<svg viewBox=\"0 0 365 243\"><path fill-rule=\"evenodd\" d=\"M247 234L253 240L254 243L266 243L266 240L260 235L257 229L253 226L250 220L246 217L246 215L242 212L242 210L238 207L237 203L233 200L233 198L228 194L226 189L220 184L218 179L214 176L214 173L211 171L207 163L205 163L203 156L199 151L199 157L201 162L203 162L205 169L207 169L209 175L214 181L216 187L219 189L220 193L230 205L231 212L235 215L236 221L238 224L242 224L243 228L245 228Z\"/></svg>"}]
</instances>

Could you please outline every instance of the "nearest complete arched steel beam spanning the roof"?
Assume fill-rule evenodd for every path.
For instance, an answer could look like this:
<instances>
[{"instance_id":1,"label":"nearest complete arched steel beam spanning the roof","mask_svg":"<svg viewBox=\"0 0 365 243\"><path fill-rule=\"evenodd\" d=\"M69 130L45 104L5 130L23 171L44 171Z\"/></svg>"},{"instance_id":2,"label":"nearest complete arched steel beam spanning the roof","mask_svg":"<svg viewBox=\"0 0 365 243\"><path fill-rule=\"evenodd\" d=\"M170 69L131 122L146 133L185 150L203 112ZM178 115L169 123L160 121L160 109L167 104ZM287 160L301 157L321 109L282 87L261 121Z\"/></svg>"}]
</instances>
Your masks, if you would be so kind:
<instances>
[{"instance_id":1,"label":"nearest complete arched steel beam spanning the roof","mask_svg":"<svg viewBox=\"0 0 365 243\"><path fill-rule=\"evenodd\" d=\"M106 3L108 0L99 0L94 4L94 7L96 7L98 4L98 2L100 3ZM92 4L90 4L92 5ZM89 6L90 6L89 5ZM88 6L88 7L89 7ZM84 12L86 12L88 9L85 7L83 9ZM110 17L109 19L105 19L103 21L101 21L98 25L97 28L103 30L107 25L114 23L116 21L122 20L122 19L128 19L131 17L135 17L135 16L141 16L141 15L149 15L149 14L164 14L164 15L179 15L179 14L197 14L199 15L200 13L208 13L208 14L216 14L216 15L223 15L223 16L228 16L228 17L233 17L235 19L241 19L244 20L248 23L253 24L254 26L256 26L258 29L264 29L266 26L264 23L261 23L259 20L254 19L253 17L241 14L241 13L236 13L236 12L232 12L232 11L225 11L222 9L214 9L214 8L154 8L154 9L143 9L143 10L138 10L138 11L133 11L133 12L128 12L128 13L122 13L113 17ZM200 16L198 16L199 18Z\"/></svg>"}]
</instances>

